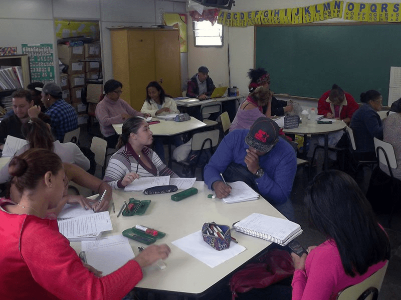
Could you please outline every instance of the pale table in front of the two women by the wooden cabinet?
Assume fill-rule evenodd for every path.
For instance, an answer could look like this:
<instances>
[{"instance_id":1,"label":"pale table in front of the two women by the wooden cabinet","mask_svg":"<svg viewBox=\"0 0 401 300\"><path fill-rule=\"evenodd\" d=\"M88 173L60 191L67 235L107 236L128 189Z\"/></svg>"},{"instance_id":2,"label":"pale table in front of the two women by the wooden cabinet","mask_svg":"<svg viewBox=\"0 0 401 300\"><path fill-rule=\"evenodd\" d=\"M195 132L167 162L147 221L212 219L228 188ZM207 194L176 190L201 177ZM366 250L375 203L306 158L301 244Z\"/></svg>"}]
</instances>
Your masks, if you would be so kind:
<instances>
[{"instance_id":1,"label":"pale table in front of the two women by the wooden cabinet","mask_svg":"<svg viewBox=\"0 0 401 300\"><path fill-rule=\"evenodd\" d=\"M206 124L202 121L191 116L190 120L176 122L174 120L163 120L157 117L152 117L152 120L160 120L160 123L150 124L149 128L153 132L153 135L157 136L174 136L184 132L190 132L195 129L202 128ZM122 123L113 124L113 128L117 134L121 134ZM168 167L171 168L171 142L172 138L168 140Z\"/></svg>"}]
</instances>

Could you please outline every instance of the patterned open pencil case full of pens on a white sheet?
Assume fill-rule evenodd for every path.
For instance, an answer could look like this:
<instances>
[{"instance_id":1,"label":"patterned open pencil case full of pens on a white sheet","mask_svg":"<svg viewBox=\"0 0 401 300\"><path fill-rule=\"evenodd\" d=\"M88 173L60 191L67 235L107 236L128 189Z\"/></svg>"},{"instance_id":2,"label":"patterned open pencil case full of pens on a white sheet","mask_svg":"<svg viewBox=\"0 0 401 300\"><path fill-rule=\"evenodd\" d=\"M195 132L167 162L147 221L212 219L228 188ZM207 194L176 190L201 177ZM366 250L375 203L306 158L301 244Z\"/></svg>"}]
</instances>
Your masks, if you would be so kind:
<instances>
[{"instance_id":1,"label":"patterned open pencil case full of pens on a white sheet","mask_svg":"<svg viewBox=\"0 0 401 300\"><path fill-rule=\"evenodd\" d=\"M214 229L216 228L215 225L217 225L221 229L221 231L219 229L217 230L222 232L223 234L221 233L215 234L216 232ZM230 247L230 241L231 241L230 226L216 224L215 222L204 223L201 231L204 241L206 241L212 248L215 248L216 250L220 251Z\"/></svg>"}]
</instances>

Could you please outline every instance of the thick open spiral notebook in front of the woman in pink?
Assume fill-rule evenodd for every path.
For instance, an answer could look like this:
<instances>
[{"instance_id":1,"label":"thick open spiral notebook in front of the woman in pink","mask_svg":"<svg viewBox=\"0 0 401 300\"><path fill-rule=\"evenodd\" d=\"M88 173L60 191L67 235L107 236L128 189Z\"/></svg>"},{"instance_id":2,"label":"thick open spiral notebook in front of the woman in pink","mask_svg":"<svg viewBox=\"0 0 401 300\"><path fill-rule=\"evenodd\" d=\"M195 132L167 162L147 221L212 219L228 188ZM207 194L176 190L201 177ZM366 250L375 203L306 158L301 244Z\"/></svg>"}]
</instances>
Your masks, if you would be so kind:
<instances>
[{"instance_id":1,"label":"thick open spiral notebook in front of the woman in pink","mask_svg":"<svg viewBox=\"0 0 401 300\"><path fill-rule=\"evenodd\" d=\"M235 223L234 229L282 246L302 233L301 226L297 223L256 212Z\"/></svg>"}]
</instances>

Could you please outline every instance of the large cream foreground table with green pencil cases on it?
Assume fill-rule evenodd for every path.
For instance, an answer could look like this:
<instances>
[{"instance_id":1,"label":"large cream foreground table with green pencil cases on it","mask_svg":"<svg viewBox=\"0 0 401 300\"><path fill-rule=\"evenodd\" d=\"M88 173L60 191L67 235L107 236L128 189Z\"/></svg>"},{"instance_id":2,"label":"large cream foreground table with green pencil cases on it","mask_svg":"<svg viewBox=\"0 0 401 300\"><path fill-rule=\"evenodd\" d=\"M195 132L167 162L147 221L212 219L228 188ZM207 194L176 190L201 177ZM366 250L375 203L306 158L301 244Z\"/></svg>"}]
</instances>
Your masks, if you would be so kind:
<instances>
[{"instance_id":1,"label":"large cream foreground table with green pencil cases on it","mask_svg":"<svg viewBox=\"0 0 401 300\"><path fill-rule=\"evenodd\" d=\"M200 296L209 287L264 250L270 245L270 242L233 230L232 235L237 238L239 244L247 249L222 264L211 268L171 244L172 241L200 230L204 222L216 221L217 223L231 226L234 222L243 219L252 212L284 218L279 211L262 197L253 201L226 204L221 199L208 198L207 195L212 191L208 189L203 181L196 181L193 186L198 189L198 193L178 202L170 199L173 193L144 195L142 192L113 190L113 201L116 210L113 213L110 208L113 230L104 232L104 236L121 234L124 229L141 224L165 232L166 236L157 240L156 244L167 243L171 248L170 255L165 259L166 268L159 270L155 266L146 267L143 279L136 285L137 287L154 289L158 292ZM151 199L152 202L144 215L122 216L121 214L117 218L123 201L128 201L130 197L135 197L139 200ZM143 246L142 243L131 239L129 242L135 254L138 253L138 246ZM77 252L81 250L80 242L71 242L71 245Z\"/></svg>"}]
</instances>

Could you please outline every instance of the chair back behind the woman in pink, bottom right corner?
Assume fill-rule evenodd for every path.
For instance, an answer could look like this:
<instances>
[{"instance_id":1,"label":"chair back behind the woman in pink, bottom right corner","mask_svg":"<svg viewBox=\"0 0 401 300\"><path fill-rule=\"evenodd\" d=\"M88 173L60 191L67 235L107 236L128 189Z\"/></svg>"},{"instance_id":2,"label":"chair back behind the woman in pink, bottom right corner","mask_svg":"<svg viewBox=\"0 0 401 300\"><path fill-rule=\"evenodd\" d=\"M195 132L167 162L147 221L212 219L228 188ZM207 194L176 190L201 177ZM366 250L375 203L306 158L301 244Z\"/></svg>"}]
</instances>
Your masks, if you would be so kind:
<instances>
[{"instance_id":1,"label":"chair back behind the woman in pink, bottom right corner","mask_svg":"<svg viewBox=\"0 0 401 300\"><path fill-rule=\"evenodd\" d=\"M387 265L388 261L381 269L371 274L362 282L341 290L337 295L337 300L377 300Z\"/></svg>"}]
</instances>

